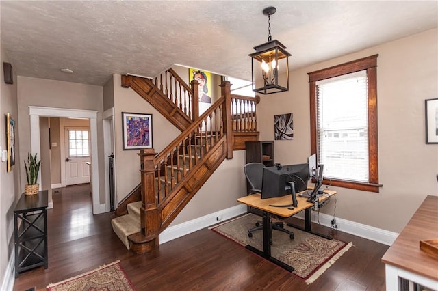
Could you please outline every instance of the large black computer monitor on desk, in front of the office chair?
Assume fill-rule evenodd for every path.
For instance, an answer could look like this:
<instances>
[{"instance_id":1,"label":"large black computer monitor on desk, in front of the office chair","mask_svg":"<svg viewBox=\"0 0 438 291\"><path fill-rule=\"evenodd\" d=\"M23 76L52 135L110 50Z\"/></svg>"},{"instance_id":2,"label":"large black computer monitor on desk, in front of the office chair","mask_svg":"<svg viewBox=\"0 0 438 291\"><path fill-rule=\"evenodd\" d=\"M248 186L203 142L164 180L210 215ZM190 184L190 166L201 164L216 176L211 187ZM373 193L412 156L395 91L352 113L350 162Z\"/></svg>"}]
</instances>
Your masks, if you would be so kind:
<instances>
[{"instance_id":1,"label":"large black computer monitor on desk, in front of the office chair","mask_svg":"<svg viewBox=\"0 0 438 291\"><path fill-rule=\"evenodd\" d=\"M285 166L277 164L273 167L266 167L263 169L261 199L292 195L293 204L296 207L295 193L307 190L307 180L309 180L307 163Z\"/></svg>"}]
</instances>

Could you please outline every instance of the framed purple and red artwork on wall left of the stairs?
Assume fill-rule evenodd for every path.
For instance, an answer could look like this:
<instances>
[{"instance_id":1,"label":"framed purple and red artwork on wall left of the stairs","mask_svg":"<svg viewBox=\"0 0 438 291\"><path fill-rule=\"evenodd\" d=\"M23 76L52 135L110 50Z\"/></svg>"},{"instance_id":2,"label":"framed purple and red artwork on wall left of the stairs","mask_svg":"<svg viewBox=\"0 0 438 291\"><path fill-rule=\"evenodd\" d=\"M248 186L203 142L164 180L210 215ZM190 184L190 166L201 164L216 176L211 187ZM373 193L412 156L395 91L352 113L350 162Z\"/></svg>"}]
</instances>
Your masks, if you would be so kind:
<instances>
[{"instance_id":1,"label":"framed purple and red artwork on wall left of the stairs","mask_svg":"<svg viewBox=\"0 0 438 291\"><path fill-rule=\"evenodd\" d=\"M153 148L152 114L122 112L123 150Z\"/></svg>"}]
</instances>

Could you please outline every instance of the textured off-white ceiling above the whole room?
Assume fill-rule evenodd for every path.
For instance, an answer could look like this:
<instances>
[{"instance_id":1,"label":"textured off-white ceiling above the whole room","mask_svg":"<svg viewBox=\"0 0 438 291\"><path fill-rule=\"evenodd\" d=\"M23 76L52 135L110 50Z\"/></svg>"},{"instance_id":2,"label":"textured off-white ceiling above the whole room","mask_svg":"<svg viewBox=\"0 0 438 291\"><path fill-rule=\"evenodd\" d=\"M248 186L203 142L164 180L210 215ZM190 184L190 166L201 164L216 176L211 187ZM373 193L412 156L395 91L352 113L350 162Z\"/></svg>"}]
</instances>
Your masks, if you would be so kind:
<instances>
[{"instance_id":1,"label":"textured off-white ceiling above the whole room","mask_svg":"<svg viewBox=\"0 0 438 291\"><path fill-rule=\"evenodd\" d=\"M103 85L179 64L250 80L270 5L291 70L438 27L438 1L2 0L1 43L21 76Z\"/></svg>"}]
</instances>

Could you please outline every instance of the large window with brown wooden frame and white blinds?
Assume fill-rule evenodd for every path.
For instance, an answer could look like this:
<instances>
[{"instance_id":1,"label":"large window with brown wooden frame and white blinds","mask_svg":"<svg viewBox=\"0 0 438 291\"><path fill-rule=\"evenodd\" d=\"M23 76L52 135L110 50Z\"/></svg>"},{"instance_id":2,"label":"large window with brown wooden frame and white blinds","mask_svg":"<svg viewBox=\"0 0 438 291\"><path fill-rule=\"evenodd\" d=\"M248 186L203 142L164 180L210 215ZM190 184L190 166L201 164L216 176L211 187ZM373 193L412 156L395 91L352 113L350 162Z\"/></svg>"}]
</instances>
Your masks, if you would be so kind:
<instances>
[{"instance_id":1,"label":"large window with brown wooden frame and white blinds","mask_svg":"<svg viewBox=\"0 0 438 291\"><path fill-rule=\"evenodd\" d=\"M324 184L379 191L377 57L309 73L311 154Z\"/></svg>"}]
</instances>

